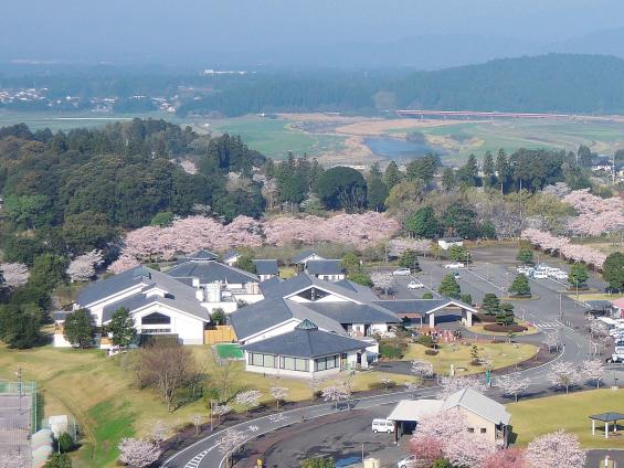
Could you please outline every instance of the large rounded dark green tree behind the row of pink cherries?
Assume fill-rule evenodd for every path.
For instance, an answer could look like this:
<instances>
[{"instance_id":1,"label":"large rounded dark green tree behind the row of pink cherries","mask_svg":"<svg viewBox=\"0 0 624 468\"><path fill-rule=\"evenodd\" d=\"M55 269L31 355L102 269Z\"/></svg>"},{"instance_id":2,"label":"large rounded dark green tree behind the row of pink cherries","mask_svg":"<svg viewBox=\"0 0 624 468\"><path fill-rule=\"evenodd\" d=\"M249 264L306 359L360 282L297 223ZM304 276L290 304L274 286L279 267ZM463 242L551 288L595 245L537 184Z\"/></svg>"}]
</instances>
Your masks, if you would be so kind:
<instances>
[{"instance_id":1,"label":"large rounded dark green tree behind the row of pink cherries","mask_svg":"<svg viewBox=\"0 0 624 468\"><path fill-rule=\"evenodd\" d=\"M357 170L338 166L318 178L316 193L328 209L352 213L366 206L367 182Z\"/></svg>"}]
</instances>

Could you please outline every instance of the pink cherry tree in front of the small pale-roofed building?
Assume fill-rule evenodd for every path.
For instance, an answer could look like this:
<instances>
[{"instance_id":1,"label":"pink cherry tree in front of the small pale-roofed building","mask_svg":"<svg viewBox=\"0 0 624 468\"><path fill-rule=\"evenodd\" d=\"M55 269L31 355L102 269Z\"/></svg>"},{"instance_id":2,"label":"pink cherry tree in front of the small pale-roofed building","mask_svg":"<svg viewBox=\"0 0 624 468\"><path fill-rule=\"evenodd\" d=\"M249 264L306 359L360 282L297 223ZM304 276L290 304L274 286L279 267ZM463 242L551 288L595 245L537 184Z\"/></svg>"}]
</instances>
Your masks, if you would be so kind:
<instances>
[{"instance_id":1,"label":"pink cherry tree in front of the small pale-roofed building","mask_svg":"<svg viewBox=\"0 0 624 468\"><path fill-rule=\"evenodd\" d=\"M496 446L487 437L468 432L468 422L457 408L429 413L419 419L411 445L423 444L423 438L437 440L442 453L453 465L480 467Z\"/></svg>"}]
</instances>

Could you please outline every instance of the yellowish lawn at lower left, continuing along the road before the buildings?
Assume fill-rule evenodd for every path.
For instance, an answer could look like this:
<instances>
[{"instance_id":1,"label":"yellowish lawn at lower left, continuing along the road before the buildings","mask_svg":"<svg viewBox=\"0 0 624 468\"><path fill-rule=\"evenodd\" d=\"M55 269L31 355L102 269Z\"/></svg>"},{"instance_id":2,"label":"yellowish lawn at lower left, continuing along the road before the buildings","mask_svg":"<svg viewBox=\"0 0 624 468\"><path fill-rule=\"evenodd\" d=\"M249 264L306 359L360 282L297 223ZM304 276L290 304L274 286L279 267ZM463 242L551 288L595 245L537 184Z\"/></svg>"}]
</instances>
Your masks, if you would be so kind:
<instances>
[{"instance_id":1,"label":"yellowish lawn at lower left, continuing along the road before the buildings","mask_svg":"<svg viewBox=\"0 0 624 468\"><path fill-rule=\"evenodd\" d=\"M198 363L205 370L205 384L218 386L219 368L210 347L192 347ZM244 371L244 363L230 364L232 391L260 390L262 402L273 405L268 392L272 386L289 389L288 401L304 401L311 396L308 382L296 379L262 376ZM128 359L106 358L101 350L72 350L50 345L33 350L9 350L0 344L0 380L14 380L21 368L25 381L34 381L43 402L41 416L56 414L74 416L82 435L82 447L74 456L74 466L115 466L117 445L124 437L149 434L157 421L168 427L192 422L194 415L208 421L203 401L181 406L169 413L159 396L149 389L138 390ZM384 375L362 372L353 377L353 390L369 390L369 384ZM398 383L409 376L392 376ZM235 411L243 408L232 404Z\"/></svg>"}]
</instances>

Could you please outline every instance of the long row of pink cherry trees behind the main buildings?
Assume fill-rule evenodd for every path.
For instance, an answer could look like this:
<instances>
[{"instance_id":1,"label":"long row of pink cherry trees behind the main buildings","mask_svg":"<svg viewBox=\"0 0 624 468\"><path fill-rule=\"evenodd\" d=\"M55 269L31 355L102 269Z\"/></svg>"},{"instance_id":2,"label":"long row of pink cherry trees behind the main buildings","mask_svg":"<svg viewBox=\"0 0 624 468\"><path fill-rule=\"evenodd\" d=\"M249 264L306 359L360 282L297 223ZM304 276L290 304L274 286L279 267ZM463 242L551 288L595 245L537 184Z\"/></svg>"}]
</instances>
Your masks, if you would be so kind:
<instances>
[{"instance_id":1,"label":"long row of pink cherry trees behind the main buildings","mask_svg":"<svg viewBox=\"0 0 624 468\"><path fill-rule=\"evenodd\" d=\"M130 231L124 240L121 255L109 269L119 273L139 262L172 259L200 248L224 252L242 246L315 242L370 245L392 236L400 227L395 219L376 212L337 214L328 219L278 216L267 221L237 216L230 224L212 217L190 216L176 220L166 227L146 226Z\"/></svg>"}]
</instances>

